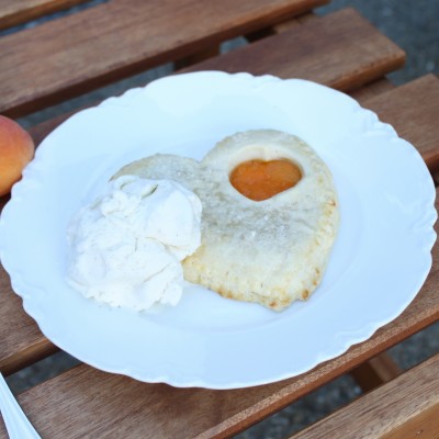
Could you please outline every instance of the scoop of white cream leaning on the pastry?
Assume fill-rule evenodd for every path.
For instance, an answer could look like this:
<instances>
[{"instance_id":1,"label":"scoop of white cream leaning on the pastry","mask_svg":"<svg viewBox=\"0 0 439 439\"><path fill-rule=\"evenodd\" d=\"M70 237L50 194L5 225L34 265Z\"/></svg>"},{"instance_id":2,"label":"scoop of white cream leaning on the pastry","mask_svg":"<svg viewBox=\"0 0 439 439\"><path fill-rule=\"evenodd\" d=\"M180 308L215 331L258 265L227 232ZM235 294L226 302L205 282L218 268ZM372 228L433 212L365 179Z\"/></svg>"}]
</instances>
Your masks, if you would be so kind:
<instances>
[{"instance_id":1,"label":"scoop of white cream leaning on the pastry","mask_svg":"<svg viewBox=\"0 0 439 439\"><path fill-rule=\"evenodd\" d=\"M123 176L74 216L68 283L112 306L176 305L181 261L200 246L201 201L171 180Z\"/></svg>"}]
</instances>

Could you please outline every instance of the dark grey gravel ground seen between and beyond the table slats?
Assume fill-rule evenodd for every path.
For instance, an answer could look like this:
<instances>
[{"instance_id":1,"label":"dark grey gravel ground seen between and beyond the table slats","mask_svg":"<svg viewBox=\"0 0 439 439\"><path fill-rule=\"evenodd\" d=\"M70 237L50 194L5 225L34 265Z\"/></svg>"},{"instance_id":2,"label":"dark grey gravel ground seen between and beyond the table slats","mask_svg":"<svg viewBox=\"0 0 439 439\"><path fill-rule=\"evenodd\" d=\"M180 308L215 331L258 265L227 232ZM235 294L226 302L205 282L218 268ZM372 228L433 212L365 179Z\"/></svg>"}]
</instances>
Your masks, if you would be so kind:
<instances>
[{"instance_id":1,"label":"dark grey gravel ground seen between and beyond the table slats","mask_svg":"<svg viewBox=\"0 0 439 439\"><path fill-rule=\"evenodd\" d=\"M439 2L434 0L334 0L330 5L319 8L318 14L326 14L344 7L353 7L370 22L399 45L407 54L406 66L391 74L390 79L402 85L425 74L439 74ZM229 45L243 44L241 40ZM227 45L224 49L227 49ZM168 75L171 65L148 70L145 74L105 87L67 103L41 111L21 119L19 122L30 127L56 114L91 104L109 95L116 95L124 90L144 86L148 81ZM408 369L425 358L439 352L439 324L415 335L405 342L391 349L391 354L403 368ZM13 392L19 393L41 380L47 379L77 364L64 352L43 360L8 379ZM280 439L297 431L335 408L347 404L361 393L352 379L341 376L330 384L302 398L282 412L266 419L237 436L239 439Z\"/></svg>"}]
</instances>

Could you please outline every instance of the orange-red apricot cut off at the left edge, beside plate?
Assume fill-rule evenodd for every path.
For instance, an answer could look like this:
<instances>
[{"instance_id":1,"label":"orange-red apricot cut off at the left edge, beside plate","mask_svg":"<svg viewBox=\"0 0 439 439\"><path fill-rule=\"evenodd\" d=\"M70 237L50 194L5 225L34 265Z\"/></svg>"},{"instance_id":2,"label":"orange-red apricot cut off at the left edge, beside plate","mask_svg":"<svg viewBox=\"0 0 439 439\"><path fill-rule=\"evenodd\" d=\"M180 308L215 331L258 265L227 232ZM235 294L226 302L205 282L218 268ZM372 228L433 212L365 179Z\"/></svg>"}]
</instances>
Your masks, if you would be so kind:
<instances>
[{"instance_id":1,"label":"orange-red apricot cut off at the left edge, beside plate","mask_svg":"<svg viewBox=\"0 0 439 439\"><path fill-rule=\"evenodd\" d=\"M34 154L31 135L15 121L0 115L0 196L11 192Z\"/></svg>"}]
</instances>

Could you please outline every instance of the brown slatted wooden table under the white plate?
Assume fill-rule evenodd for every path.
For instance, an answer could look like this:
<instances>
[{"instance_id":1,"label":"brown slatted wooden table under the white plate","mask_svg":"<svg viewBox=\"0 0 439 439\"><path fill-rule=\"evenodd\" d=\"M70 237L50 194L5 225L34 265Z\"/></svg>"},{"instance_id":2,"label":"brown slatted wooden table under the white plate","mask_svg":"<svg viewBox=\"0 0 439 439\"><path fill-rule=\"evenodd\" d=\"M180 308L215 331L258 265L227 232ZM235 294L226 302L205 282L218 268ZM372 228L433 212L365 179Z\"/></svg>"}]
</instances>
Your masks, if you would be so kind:
<instances>
[{"instance_id":1,"label":"brown slatted wooden table under the white plate","mask_svg":"<svg viewBox=\"0 0 439 439\"><path fill-rule=\"evenodd\" d=\"M318 18L312 9L325 0L110 0L52 14L81 2L0 0L2 29L49 16L0 37L0 113L20 117L165 63L184 71L271 74L350 93L413 143L432 175L439 169L438 78L394 87L385 75L403 65L404 52L352 9ZM247 45L218 54L222 42L241 35ZM36 144L68 115L33 126ZM0 199L0 209L7 202ZM437 438L431 415L439 410L439 357L396 376L385 354L439 318L437 246L432 252L426 283L398 318L303 375L243 390L181 390L80 364L20 394L19 402L44 438L230 437L350 372L372 392L296 437L403 438L423 431L423 438ZM56 351L0 267L1 372Z\"/></svg>"}]
</instances>

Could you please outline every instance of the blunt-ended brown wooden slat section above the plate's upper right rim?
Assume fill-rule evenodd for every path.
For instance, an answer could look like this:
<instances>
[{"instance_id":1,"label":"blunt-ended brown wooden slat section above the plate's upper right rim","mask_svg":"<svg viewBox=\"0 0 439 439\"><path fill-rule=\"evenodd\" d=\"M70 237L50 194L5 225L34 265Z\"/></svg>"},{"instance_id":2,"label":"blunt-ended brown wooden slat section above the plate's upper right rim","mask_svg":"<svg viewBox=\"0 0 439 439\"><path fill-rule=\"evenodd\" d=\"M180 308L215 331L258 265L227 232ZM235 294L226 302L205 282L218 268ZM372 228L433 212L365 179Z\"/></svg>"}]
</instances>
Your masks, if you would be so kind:
<instances>
[{"instance_id":1,"label":"blunt-ended brown wooden slat section above the plate's upper right rim","mask_svg":"<svg viewBox=\"0 0 439 439\"><path fill-rule=\"evenodd\" d=\"M274 66L281 78L306 78L351 91L399 68L404 60L401 48L348 8L307 19L301 25L189 70L239 72L245 66L245 71L266 75L273 74Z\"/></svg>"}]
</instances>

